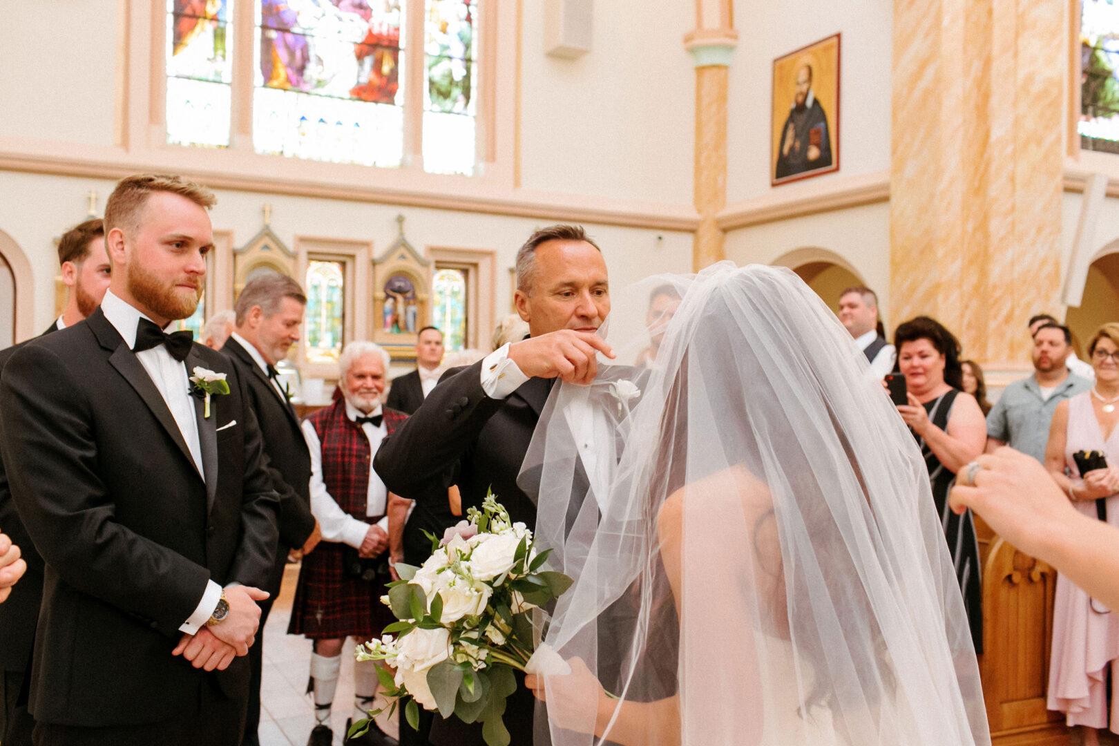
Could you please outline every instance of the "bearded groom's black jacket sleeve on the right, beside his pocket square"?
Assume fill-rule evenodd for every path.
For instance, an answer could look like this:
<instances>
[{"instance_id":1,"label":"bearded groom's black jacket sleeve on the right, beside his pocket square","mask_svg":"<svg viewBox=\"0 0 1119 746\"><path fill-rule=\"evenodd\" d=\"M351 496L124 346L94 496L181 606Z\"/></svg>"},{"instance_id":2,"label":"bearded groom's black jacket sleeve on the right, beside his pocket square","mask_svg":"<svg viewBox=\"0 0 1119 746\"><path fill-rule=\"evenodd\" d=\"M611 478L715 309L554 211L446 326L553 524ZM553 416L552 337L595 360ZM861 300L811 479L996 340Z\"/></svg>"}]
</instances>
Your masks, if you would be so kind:
<instances>
[{"instance_id":1,"label":"bearded groom's black jacket sleeve on the right, beside his pocket square","mask_svg":"<svg viewBox=\"0 0 1119 746\"><path fill-rule=\"evenodd\" d=\"M244 377L237 376L237 380L245 416L245 474L241 490L241 545L234 556L229 577L244 585L264 588L267 587L269 575L275 564L280 535L279 498L269 473L264 438L261 436L256 414L250 405L252 399L245 390Z\"/></svg>"}]
</instances>

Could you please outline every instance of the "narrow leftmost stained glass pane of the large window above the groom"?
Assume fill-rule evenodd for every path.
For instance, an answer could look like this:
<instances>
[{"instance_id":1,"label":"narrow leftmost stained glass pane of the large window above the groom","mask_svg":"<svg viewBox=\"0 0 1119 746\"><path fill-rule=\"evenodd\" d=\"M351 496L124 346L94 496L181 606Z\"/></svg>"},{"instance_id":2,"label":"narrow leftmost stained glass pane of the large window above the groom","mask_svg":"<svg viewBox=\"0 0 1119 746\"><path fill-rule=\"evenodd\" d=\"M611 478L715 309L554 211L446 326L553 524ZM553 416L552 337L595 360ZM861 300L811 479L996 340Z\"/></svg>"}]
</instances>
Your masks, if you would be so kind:
<instances>
[{"instance_id":1,"label":"narrow leftmost stained glass pane of the large window above the groom","mask_svg":"<svg viewBox=\"0 0 1119 746\"><path fill-rule=\"evenodd\" d=\"M233 0L167 0L167 141L229 144Z\"/></svg>"}]
</instances>

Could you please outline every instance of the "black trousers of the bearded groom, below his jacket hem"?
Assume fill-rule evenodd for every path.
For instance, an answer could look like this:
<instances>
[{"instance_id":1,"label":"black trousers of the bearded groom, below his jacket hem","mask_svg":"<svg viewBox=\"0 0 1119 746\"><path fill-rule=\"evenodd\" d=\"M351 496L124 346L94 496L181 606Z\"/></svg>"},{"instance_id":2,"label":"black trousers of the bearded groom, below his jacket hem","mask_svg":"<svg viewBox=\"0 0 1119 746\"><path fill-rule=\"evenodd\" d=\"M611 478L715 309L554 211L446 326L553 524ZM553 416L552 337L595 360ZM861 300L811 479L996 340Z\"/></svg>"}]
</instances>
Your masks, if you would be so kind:
<instances>
[{"instance_id":1,"label":"black trousers of the bearded groom, below his jacket hem","mask_svg":"<svg viewBox=\"0 0 1119 746\"><path fill-rule=\"evenodd\" d=\"M35 746L237 746L244 731L245 700L228 699L207 679L199 709L190 715L104 728L36 723L34 743Z\"/></svg>"}]
</instances>

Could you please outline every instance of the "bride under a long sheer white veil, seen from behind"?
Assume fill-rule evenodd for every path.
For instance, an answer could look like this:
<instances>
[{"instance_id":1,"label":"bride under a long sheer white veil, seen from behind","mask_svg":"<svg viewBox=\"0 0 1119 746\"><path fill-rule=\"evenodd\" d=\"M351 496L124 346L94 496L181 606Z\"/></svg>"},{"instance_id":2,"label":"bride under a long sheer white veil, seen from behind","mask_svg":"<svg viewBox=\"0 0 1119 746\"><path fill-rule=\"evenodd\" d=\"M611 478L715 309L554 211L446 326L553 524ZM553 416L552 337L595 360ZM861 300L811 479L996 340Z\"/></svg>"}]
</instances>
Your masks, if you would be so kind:
<instances>
[{"instance_id":1,"label":"bride under a long sheer white veil, seen from behind","mask_svg":"<svg viewBox=\"0 0 1119 746\"><path fill-rule=\"evenodd\" d=\"M615 295L619 361L664 285L656 359L555 386L521 470L575 579L537 611L537 743L989 744L924 463L865 356L792 272L724 262Z\"/></svg>"}]
</instances>

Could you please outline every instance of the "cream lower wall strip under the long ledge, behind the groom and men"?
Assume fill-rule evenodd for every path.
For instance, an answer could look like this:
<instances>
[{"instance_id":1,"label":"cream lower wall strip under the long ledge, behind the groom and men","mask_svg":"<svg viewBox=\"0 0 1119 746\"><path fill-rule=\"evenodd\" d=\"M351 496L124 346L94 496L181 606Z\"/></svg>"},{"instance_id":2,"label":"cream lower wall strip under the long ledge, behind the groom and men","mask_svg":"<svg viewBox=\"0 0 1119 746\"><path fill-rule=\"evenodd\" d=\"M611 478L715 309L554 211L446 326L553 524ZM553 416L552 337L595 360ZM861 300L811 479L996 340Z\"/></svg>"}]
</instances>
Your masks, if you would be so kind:
<instances>
[{"instance_id":1,"label":"cream lower wall strip under the long ledge, behind the groom and men","mask_svg":"<svg viewBox=\"0 0 1119 746\"><path fill-rule=\"evenodd\" d=\"M86 195L96 190L98 209L112 191L112 180L0 171L0 230L7 232L30 258L34 271L35 329L54 318L58 258L54 239L85 218ZM405 216L405 236L421 252L425 246L491 249L497 253L495 318L509 312L509 267L517 248L537 227L554 219L505 217L339 199L300 198L216 190L215 230L232 230L234 246L248 242L262 227L262 206L272 206L272 229L289 247L297 236L372 240L379 255L396 238L396 216ZM653 272L688 272L692 234L585 224L606 258L611 282L621 287ZM488 331L480 334L488 339Z\"/></svg>"}]
</instances>

